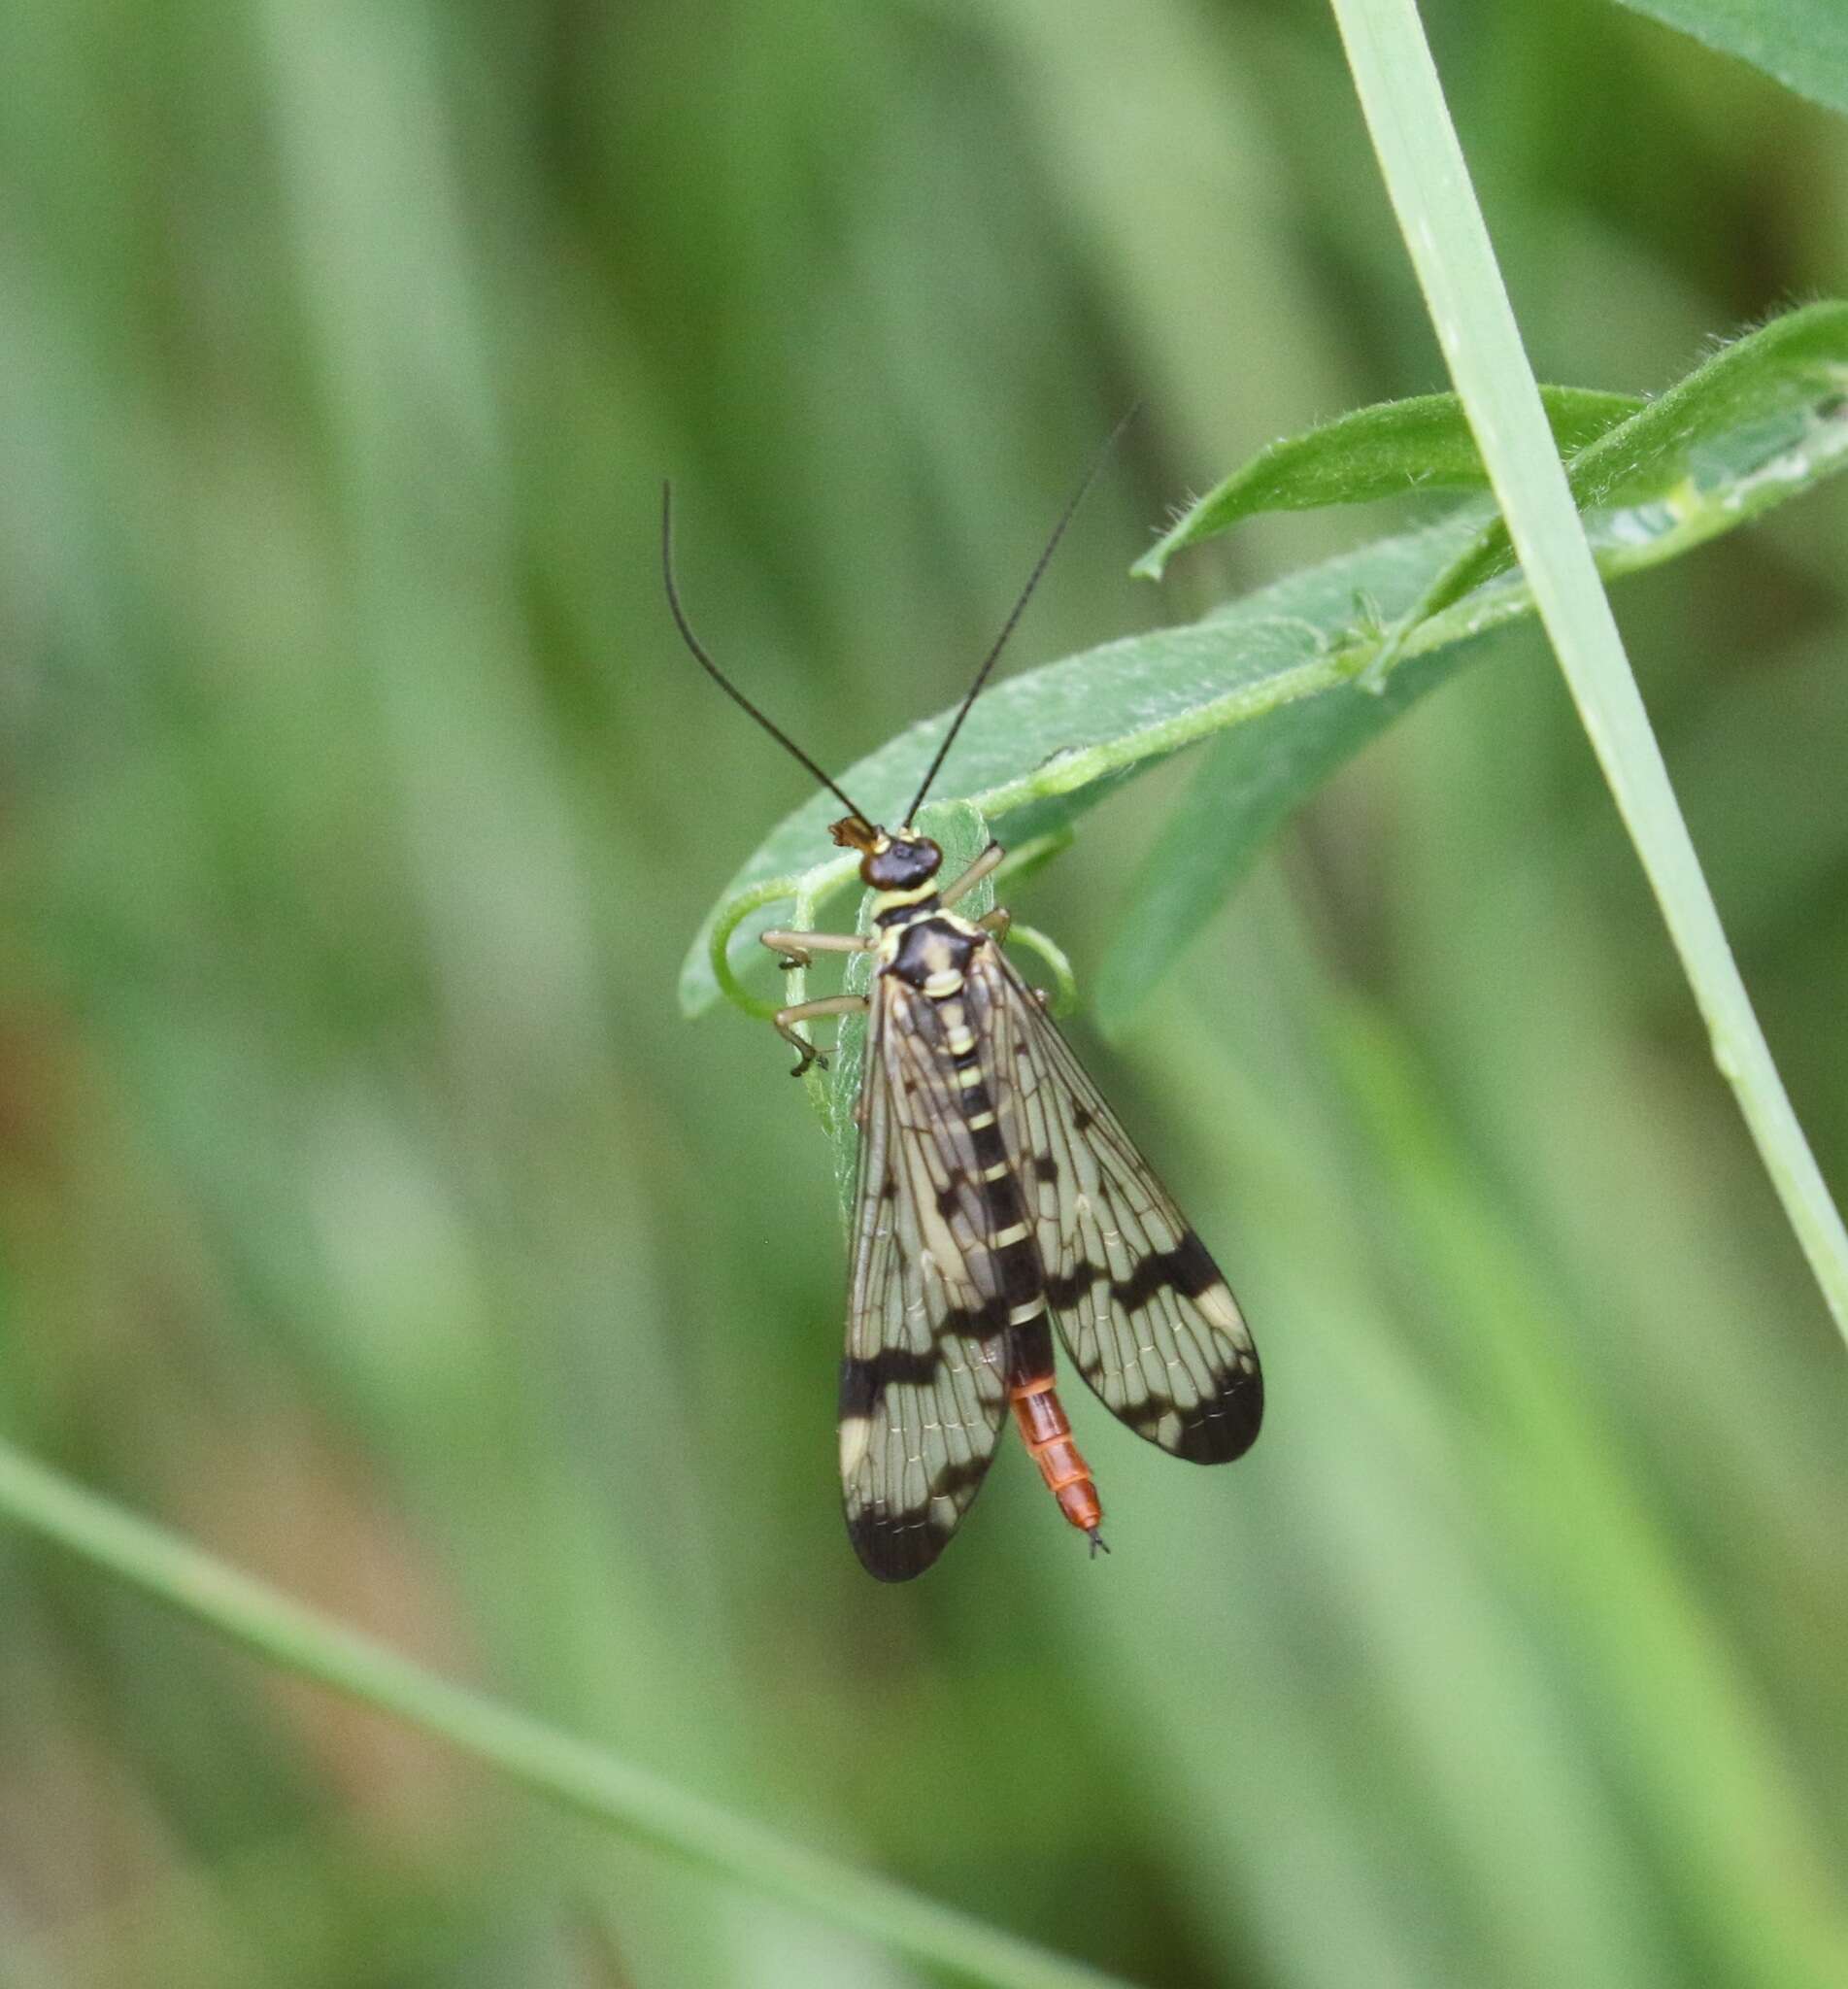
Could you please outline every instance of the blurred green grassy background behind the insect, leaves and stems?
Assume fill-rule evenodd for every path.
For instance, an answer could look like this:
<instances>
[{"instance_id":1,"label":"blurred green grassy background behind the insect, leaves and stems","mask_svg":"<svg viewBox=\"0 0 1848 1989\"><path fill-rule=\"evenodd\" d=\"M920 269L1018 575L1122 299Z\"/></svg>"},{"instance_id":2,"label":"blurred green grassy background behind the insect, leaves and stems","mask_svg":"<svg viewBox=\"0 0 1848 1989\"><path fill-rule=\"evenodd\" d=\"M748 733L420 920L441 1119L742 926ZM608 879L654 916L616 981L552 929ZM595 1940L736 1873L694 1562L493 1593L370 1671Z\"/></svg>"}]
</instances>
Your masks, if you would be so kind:
<instances>
[{"instance_id":1,"label":"blurred green grassy background behind the insect, leaves and stems","mask_svg":"<svg viewBox=\"0 0 1848 1989\"><path fill-rule=\"evenodd\" d=\"M1591 0L1428 10L1546 380L1848 288L1848 127ZM1842 1347L1540 640L1420 706L1086 1054L1271 1386L1072 1400L847 1549L786 1052L674 1006L804 776L1198 613L1168 507L1444 384L1301 6L0 14L0 1428L792 1838L1144 1985L1848 1979ZM1848 1183L1848 489L1621 589ZM1080 977L1178 766L1015 897ZM917 1981L0 1530L0 1977Z\"/></svg>"}]
</instances>

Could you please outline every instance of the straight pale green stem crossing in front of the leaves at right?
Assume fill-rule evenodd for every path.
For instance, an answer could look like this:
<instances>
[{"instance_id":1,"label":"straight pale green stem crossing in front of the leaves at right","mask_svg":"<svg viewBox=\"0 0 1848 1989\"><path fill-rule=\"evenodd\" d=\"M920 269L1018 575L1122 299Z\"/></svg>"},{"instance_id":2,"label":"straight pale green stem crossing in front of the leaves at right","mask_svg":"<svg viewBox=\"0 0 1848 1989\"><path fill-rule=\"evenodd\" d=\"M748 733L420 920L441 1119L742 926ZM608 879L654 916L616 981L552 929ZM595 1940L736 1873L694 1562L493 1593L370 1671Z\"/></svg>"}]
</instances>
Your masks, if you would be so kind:
<instances>
[{"instance_id":1,"label":"straight pale green stem crossing in front of the leaves at right","mask_svg":"<svg viewBox=\"0 0 1848 1989\"><path fill-rule=\"evenodd\" d=\"M1361 109L1508 533L1758 1156L1848 1337L1848 1231L1753 1014L1470 189L1414 0L1331 0Z\"/></svg>"}]
</instances>

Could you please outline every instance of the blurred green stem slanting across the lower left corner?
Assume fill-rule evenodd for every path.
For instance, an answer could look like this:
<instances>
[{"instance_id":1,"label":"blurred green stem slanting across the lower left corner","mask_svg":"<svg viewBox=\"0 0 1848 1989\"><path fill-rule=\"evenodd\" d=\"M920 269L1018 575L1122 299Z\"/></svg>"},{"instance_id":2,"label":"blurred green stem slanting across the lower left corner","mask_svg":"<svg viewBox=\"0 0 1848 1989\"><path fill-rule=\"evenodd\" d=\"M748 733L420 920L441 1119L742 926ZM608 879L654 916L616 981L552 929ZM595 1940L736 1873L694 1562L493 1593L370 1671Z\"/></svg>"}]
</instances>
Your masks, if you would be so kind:
<instances>
[{"instance_id":1,"label":"blurred green stem slanting across the lower left corner","mask_svg":"<svg viewBox=\"0 0 1848 1989\"><path fill-rule=\"evenodd\" d=\"M1112 1989L1116 1981L804 1850L647 1768L452 1685L4 1442L0 1514L259 1657L436 1734L567 1810L863 1933L883 1949L1001 1989Z\"/></svg>"}]
</instances>

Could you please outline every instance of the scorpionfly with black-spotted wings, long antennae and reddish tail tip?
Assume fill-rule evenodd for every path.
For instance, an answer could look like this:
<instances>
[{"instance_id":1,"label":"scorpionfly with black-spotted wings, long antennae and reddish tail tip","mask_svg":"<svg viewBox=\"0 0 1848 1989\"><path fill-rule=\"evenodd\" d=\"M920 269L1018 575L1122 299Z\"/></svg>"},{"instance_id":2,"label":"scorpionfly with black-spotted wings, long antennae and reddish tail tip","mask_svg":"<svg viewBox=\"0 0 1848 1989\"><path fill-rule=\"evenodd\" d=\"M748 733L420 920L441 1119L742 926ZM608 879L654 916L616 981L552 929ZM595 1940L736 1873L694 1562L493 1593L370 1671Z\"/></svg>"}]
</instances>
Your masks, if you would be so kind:
<instances>
[{"instance_id":1,"label":"scorpionfly with black-spotted wings, long antennae and reddish tail tip","mask_svg":"<svg viewBox=\"0 0 1848 1989\"><path fill-rule=\"evenodd\" d=\"M863 939L762 937L786 967L816 953L873 955L865 994L796 1002L776 1026L800 1076L826 1066L802 1024L867 1014L839 1442L847 1534L881 1581L937 1559L1009 1414L1060 1512L1092 1555L1104 1547L1098 1488L1058 1400L1054 1325L1104 1406L1172 1456L1239 1458L1263 1416L1257 1351L1231 1289L1003 951L1009 913L955 911L1001 863L1001 845L943 883L943 851L911 827L1096 467L895 829L857 808L700 646L674 587L662 489L662 571L686 646L841 802L833 841L859 851L873 893Z\"/></svg>"}]
</instances>

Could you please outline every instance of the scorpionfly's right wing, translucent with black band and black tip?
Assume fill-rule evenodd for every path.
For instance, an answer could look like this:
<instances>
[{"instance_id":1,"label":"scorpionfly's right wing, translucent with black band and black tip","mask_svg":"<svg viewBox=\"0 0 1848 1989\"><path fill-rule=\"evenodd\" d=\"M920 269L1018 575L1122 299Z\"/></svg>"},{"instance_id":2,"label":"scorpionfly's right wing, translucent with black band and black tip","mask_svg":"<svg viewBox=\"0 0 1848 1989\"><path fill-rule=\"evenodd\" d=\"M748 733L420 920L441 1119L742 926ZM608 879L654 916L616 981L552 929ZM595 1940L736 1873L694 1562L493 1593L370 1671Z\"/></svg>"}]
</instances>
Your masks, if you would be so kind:
<instances>
[{"instance_id":1,"label":"scorpionfly's right wing, translucent with black band and black tip","mask_svg":"<svg viewBox=\"0 0 1848 1989\"><path fill-rule=\"evenodd\" d=\"M999 947L969 975L989 1082L1046 1299L1078 1372L1138 1436L1194 1464L1243 1456L1263 1418L1257 1349L1219 1267Z\"/></svg>"}]
</instances>

